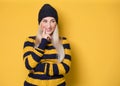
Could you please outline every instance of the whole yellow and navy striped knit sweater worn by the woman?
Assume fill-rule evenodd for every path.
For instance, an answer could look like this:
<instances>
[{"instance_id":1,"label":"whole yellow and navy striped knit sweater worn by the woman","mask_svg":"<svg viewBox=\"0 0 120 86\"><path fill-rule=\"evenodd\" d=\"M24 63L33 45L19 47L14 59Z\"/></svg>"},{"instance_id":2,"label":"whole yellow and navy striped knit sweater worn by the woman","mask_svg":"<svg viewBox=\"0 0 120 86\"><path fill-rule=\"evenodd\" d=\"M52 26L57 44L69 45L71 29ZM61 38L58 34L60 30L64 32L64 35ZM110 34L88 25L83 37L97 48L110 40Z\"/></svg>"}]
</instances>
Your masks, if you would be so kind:
<instances>
[{"instance_id":1,"label":"whole yellow and navy striped knit sweater worn by the woman","mask_svg":"<svg viewBox=\"0 0 120 86\"><path fill-rule=\"evenodd\" d=\"M71 67L71 48L65 37L62 37L65 57L62 62L57 60L57 51L51 42L45 38L35 48L36 36L26 38L23 46L23 61L25 68L30 71L24 86L65 86L64 75Z\"/></svg>"}]
</instances>

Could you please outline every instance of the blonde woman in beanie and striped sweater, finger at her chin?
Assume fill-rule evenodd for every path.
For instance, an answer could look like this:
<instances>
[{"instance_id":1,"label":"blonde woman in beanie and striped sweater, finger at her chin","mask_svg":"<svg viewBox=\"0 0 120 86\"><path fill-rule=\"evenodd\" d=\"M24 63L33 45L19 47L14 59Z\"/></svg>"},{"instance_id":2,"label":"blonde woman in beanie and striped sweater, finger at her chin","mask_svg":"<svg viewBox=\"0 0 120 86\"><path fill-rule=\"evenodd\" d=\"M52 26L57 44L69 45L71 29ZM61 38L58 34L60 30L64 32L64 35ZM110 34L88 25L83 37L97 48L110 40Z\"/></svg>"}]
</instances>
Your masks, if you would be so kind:
<instances>
[{"instance_id":1,"label":"blonde woman in beanie and striped sweater, finger at her chin","mask_svg":"<svg viewBox=\"0 0 120 86\"><path fill-rule=\"evenodd\" d=\"M24 86L66 86L64 75L71 68L71 48L66 37L58 33L58 15L50 4L38 14L36 36L26 38L23 60L29 74Z\"/></svg>"}]
</instances>

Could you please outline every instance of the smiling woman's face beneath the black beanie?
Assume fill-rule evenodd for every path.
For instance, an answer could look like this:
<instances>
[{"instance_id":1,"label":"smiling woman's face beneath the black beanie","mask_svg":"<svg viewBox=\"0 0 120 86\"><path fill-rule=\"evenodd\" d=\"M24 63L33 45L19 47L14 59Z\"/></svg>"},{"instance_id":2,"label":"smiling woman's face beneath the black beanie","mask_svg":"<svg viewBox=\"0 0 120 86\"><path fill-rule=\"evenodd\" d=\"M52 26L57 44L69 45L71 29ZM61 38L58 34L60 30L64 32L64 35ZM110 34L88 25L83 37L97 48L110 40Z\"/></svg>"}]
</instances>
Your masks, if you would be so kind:
<instances>
[{"instance_id":1,"label":"smiling woman's face beneath the black beanie","mask_svg":"<svg viewBox=\"0 0 120 86\"><path fill-rule=\"evenodd\" d=\"M54 32L57 25L54 17L45 17L41 20L40 23L40 28L42 29L42 31L45 30L46 34L49 35L51 35Z\"/></svg>"}]
</instances>

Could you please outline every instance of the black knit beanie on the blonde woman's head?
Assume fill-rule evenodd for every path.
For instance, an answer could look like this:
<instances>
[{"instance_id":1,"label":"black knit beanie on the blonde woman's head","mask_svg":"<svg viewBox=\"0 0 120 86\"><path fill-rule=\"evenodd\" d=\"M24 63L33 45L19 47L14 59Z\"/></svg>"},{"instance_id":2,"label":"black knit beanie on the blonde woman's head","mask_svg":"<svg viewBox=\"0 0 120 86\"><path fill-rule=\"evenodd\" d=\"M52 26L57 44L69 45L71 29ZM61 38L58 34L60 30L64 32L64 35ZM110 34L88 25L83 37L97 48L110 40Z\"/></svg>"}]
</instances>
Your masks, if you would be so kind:
<instances>
[{"instance_id":1,"label":"black knit beanie on the blonde woman's head","mask_svg":"<svg viewBox=\"0 0 120 86\"><path fill-rule=\"evenodd\" d=\"M55 8L53 8L50 4L44 4L38 14L38 24L45 17L54 17L56 22L58 23L58 14Z\"/></svg>"}]
</instances>

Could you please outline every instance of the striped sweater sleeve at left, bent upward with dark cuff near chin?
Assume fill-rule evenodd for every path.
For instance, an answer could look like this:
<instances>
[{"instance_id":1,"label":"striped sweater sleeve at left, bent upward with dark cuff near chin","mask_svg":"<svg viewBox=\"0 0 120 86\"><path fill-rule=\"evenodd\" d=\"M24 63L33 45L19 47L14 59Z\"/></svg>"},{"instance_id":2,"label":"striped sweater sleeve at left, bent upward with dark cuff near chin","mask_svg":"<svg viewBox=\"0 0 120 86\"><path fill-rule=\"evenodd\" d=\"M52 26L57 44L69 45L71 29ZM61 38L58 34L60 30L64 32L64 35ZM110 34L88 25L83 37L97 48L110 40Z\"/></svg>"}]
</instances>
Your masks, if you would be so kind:
<instances>
[{"instance_id":1,"label":"striped sweater sleeve at left, bent upward with dark cuff near chin","mask_svg":"<svg viewBox=\"0 0 120 86\"><path fill-rule=\"evenodd\" d=\"M28 70L34 69L40 62L40 59L44 54L47 39L42 38L41 43L37 48L34 48L34 42L35 40L33 40L31 37L27 37L23 46L23 61Z\"/></svg>"}]
</instances>

